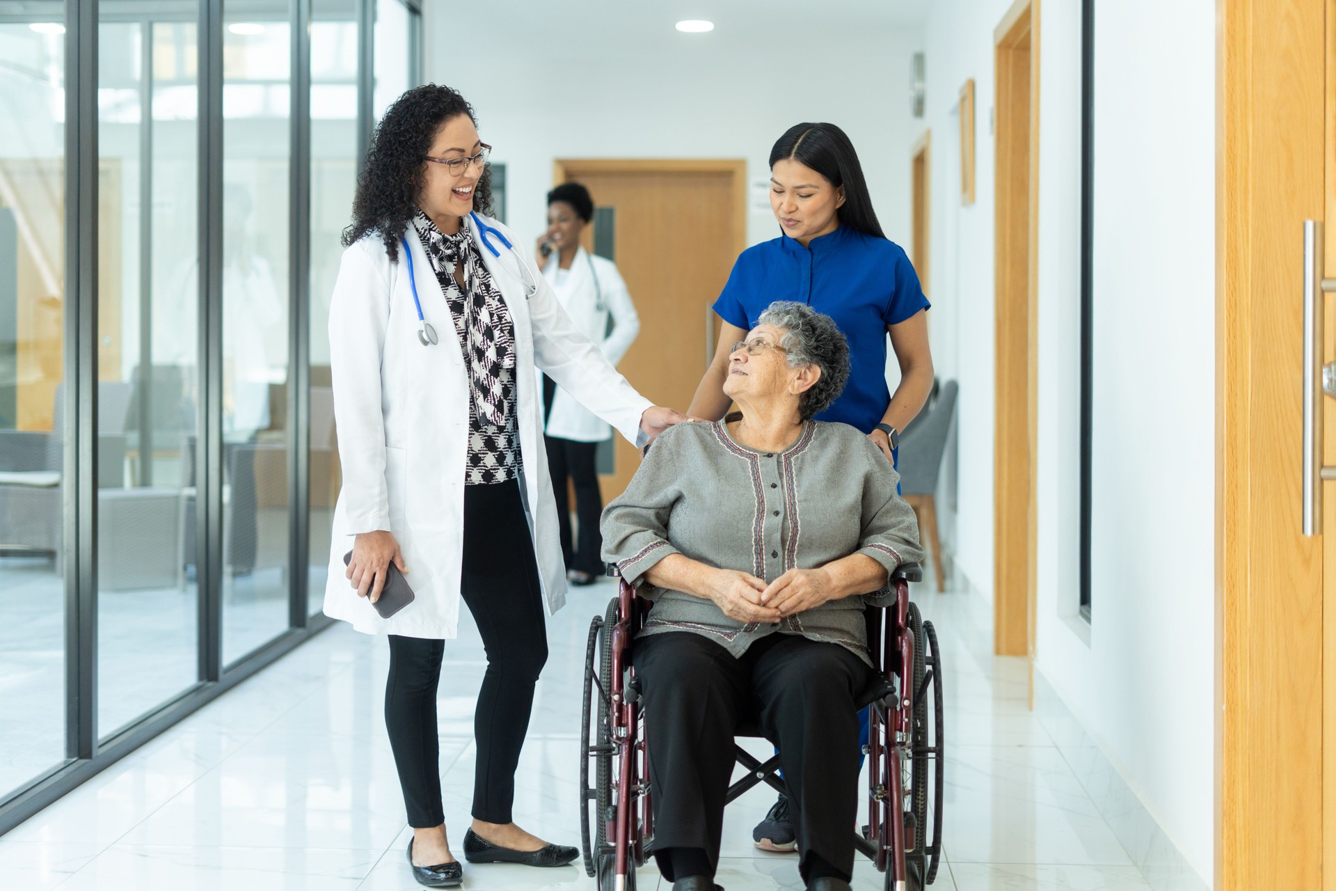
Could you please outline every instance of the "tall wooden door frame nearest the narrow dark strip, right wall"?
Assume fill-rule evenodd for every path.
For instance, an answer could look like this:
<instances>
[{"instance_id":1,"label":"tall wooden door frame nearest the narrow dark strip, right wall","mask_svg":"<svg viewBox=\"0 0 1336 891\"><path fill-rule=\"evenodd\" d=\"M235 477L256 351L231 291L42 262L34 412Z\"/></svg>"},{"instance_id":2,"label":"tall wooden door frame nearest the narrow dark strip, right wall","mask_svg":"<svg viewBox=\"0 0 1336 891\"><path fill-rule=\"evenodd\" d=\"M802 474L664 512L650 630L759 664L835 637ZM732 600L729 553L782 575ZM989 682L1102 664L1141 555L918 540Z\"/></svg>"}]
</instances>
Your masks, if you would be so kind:
<instances>
[{"instance_id":1,"label":"tall wooden door frame nearest the narrow dark strip, right wall","mask_svg":"<svg viewBox=\"0 0 1336 891\"><path fill-rule=\"evenodd\" d=\"M1017 0L994 31L994 45L997 377L993 645L999 656L1033 657L1038 464L1039 0ZM1014 83L1021 75L1029 77L1023 108ZM1026 178L1025 188L1018 188L1021 176Z\"/></svg>"}]
</instances>

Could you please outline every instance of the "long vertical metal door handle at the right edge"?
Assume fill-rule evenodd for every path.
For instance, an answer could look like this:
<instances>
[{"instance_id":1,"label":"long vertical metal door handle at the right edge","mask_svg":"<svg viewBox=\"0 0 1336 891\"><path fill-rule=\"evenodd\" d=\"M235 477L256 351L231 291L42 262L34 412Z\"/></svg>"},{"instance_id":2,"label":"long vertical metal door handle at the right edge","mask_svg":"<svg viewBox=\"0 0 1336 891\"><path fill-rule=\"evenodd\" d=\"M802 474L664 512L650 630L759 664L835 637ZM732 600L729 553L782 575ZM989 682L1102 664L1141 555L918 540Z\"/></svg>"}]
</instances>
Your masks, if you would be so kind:
<instances>
[{"instance_id":1,"label":"long vertical metal door handle at the right edge","mask_svg":"<svg viewBox=\"0 0 1336 891\"><path fill-rule=\"evenodd\" d=\"M1323 466L1323 394L1336 397L1336 363L1323 365L1323 294L1336 291L1336 278L1323 278L1321 220L1304 220L1304 505L1305 536L1323 533L1323 481L1336 468Z\"/></svg>"}]
</instances>

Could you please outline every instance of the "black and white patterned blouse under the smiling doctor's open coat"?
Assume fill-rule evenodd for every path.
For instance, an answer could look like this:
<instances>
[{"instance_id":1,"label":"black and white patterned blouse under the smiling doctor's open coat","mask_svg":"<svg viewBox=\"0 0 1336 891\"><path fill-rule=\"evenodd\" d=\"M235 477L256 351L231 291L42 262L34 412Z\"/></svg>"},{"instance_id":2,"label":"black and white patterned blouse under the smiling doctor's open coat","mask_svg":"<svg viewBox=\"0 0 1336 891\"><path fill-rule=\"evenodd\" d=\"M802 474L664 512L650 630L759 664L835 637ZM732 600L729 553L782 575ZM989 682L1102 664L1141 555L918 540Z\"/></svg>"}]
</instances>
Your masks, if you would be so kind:
<instances>
[{"instance_id":1,"label":"black and white patterned blouse under the smiling doctor's open coat","mask_svg":"<svg viewBox=\"0 0 1336 891\"><path fill-rule=\"evenodd\" d=\"M514 319L466 227L446 235L418 211L413 226L441 283L469 375L469 450L465 485L520 476L516 429ZM462 266L461 266L462 264ZM465 291L454 281L461 266Z\"/></svg>"}]
</instances>

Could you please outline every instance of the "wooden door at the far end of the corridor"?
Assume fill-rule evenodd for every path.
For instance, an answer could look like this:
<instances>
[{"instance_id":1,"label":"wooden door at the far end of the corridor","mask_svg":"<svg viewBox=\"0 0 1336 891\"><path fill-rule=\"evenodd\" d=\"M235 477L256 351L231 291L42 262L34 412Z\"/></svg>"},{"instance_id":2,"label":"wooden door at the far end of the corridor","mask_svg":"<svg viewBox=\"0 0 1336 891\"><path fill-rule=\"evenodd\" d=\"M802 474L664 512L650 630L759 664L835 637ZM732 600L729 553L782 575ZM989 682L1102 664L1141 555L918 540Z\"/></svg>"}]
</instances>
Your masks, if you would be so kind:
<instances>
[{"instance_id":1,"label":"wooden door at the far end of the corridor","mask_svg":"<svg viewBox=\"0 0 1336 891\"><path fill-rule=\"evenodd\" d=\"M711 306L747 246L747 163L741 160L558 160L556 180L589 188L613 208L617 270L640 314L640 335L617 369L655 405L683 411L713 355ZM593 248L592 227L585 250ZM621 494L640 456L613 437L604 504Z\"/></svg>"}]
</instances>

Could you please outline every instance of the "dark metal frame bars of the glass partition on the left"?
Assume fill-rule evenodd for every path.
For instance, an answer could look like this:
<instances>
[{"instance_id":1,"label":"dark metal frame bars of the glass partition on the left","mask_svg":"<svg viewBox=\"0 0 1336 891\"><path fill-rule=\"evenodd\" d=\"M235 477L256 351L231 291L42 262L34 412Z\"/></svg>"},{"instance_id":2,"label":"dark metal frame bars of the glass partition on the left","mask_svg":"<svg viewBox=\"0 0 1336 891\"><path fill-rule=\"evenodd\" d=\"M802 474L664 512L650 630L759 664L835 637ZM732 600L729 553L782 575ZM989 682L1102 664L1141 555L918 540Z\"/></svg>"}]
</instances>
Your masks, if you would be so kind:
<instances>
[{"instance_id":1,"label":"dark metal frame bars of the glass partition on the left","mask_svg":"<svg viewBox=\"0 0 1336 891\"><path fill-rule=\"evenodd\" d=\"M358 0L358 163L371 134L374 1ZM421 3L410 12L410 59L421 81ZM310 532L310 29L311 0L290 0L293 31L289 497L289 628L232 664L222 664L222 192L223 0L196 0L199 40L199 389L195 454L198 677L155 709L98 737L98 24L99 0L64 0L65 21L65 331L63 405L65 585L65 759L0 800L0 835L135 751L182 719L333 625L307 613ZM108 20L120 16L108 16ZM155 19L156 20L156 19ZM151 32L146 44L151 43ZM146 79L151 71L146 69ZM143 122L151 126L151 115ZM142 148L151 152L151 143ZM68 163L71 162L72 163ZM144 176L150 176L150 164ZM143 186L142 186L143 188ZM147 207L151 207L148 204ZM146 211L147 212L147 211ZM142 247L143 250L143 247ZM140 258L143 262L143 256Z\"/></svg>"}]
</instances>

